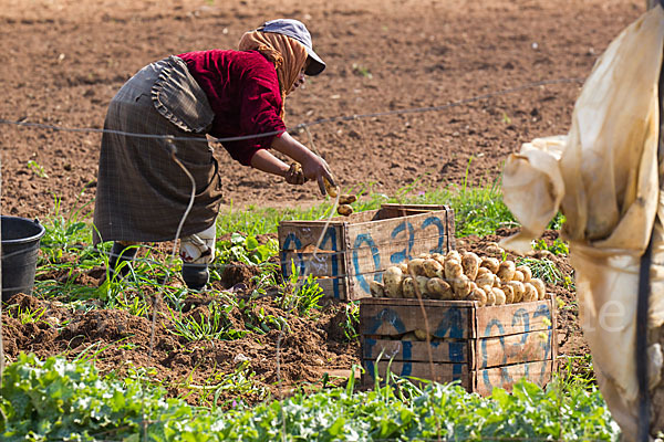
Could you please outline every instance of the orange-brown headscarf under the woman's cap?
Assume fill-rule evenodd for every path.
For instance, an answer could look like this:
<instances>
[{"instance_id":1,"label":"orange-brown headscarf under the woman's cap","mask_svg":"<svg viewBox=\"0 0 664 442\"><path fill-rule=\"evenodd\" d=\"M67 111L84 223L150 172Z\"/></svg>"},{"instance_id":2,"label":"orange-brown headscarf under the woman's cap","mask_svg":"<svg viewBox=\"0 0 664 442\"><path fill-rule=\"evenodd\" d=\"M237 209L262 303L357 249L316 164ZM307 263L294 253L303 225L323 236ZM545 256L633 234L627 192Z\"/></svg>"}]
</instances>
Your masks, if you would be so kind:
<instances>
[{"instance_id":1,"label":"orange-brown headscarf under the woman's cap","mask_svg":"<svg viewBox=\"0 0 664 442\"><path fill-rule=\"evenodd\" d=\"M276 32L249 31L238 44L240 51L258 51L274 64L281 92L281 118L284 115L286 96L307 63L307 48L290 36Z\"/></svg>"}]
</instances>

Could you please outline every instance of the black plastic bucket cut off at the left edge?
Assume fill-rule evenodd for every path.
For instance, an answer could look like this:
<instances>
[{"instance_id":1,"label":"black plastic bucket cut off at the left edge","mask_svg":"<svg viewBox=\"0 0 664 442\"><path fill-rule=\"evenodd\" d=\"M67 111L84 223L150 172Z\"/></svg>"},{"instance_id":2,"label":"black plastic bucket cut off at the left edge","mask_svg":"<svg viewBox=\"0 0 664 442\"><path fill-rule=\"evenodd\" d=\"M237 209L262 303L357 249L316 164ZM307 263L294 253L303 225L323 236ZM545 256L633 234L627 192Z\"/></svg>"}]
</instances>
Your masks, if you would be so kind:
<instances>
[{"instance_id":1,"label":"black plastic bucket cut off at the left edge","mask_svg":"<svg viewBox=\"0 0 664 442\"><path fill-rule=\"evenodd\" d=\"M45 229L39 221L0 217L2 235L2 301L17 293L32 294L39 241Z\"/></svg>"}]
</instances>

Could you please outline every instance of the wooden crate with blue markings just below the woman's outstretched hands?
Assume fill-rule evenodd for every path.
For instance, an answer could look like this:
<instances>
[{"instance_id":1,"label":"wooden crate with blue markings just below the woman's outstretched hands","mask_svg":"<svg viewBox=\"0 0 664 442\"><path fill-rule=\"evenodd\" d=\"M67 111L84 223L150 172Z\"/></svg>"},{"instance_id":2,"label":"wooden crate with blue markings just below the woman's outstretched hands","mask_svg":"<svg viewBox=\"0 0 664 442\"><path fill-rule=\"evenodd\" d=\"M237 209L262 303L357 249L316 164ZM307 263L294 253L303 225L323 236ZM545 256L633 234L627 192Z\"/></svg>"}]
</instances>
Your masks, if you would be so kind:
<instances>
[{"instance_id":1,"label":"wooden crate with blue markings just below the woman's outstretched hands","mask_svg":"<svg viewBox=\"0 0 664 442\"><path fill-rule=\"evenodd\" d=\"M329 223L282 221L278 233L284 277L294 264L300 275L315 276L326 296L354 301L371 296L370 281L382 281L388 266L454 249L454 211L447 206L383 204Z\"/></svg>"}]
</instances>

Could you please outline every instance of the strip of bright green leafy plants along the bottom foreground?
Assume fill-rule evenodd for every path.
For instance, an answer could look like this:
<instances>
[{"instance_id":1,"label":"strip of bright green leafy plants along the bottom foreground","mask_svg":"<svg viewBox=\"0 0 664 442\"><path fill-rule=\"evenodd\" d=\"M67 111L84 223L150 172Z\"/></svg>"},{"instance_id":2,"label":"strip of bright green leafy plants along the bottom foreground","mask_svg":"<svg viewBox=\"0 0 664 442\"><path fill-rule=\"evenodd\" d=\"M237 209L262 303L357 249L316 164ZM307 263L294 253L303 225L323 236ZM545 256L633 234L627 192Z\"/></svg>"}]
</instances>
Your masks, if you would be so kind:
<instances>
[{"instance_id":1,"label":"strip of bright green leafy plants along the bottom foreground","mask_svg":"<svg viewBox=\"0 0 664 442\"><path fill-rule=\"evenodd\" d=\"M234 381L196 386L212 393L248 388ZM250 376L250 375L249 375ZM519 381L512 394L489 398L455 385L418 388L404 379L370 391L295 392L283 401L229 411L164 400L141 377L103 378L90 364L22 355L3 377L0 434L4 441L481 441L618 440L619 430L594 387L558 377L546 389Z\"/></svg>"}]
</instances>

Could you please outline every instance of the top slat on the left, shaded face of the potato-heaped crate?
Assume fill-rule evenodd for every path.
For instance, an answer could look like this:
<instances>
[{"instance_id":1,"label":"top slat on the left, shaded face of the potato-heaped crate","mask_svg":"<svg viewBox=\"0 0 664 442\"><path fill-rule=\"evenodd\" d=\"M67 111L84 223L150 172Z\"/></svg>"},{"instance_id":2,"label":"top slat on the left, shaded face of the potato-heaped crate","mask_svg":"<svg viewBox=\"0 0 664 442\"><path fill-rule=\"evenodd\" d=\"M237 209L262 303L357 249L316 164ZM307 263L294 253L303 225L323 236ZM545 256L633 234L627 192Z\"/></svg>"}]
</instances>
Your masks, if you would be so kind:
<instances>
[{"instance_id":1,"label":"top slat on the left, shaded face of the potato-heaped crate","mask_svg":"<svg viewBox=\"0 0 664 442\"><path fill-rule=\"evenodd\" d=\"M437 338L471 337L475 303L470 301L429 301L363 298L360 303L361 336L395 336L425 329Z\"/></svg>"}]
</instances>

